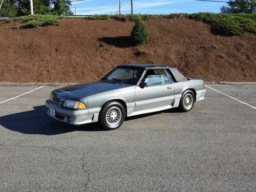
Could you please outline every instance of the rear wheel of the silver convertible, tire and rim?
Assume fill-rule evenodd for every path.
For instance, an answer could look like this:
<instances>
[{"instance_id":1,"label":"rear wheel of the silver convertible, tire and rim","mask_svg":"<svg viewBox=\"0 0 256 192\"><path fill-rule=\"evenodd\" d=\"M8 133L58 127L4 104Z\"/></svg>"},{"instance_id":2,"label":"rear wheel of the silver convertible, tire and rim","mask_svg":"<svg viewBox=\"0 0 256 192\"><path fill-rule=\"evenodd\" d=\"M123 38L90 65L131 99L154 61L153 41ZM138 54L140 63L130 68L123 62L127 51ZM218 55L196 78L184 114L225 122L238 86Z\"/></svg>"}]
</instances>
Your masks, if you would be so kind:
<instances>
[{"instance_id":1,"label":"rear wheel of the silver convertible, tire and rim","mask_svg":"<svg viewBox=\"0 0 256 192\"><path fill-rule=\"evenodd\" d=\"M179 104L179 110L182 112L188 112L190 111L195 103L195 94L191 90L185 91L181 98L180 98L180 104Z\"/></svg>"}]
</instances>

